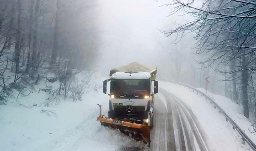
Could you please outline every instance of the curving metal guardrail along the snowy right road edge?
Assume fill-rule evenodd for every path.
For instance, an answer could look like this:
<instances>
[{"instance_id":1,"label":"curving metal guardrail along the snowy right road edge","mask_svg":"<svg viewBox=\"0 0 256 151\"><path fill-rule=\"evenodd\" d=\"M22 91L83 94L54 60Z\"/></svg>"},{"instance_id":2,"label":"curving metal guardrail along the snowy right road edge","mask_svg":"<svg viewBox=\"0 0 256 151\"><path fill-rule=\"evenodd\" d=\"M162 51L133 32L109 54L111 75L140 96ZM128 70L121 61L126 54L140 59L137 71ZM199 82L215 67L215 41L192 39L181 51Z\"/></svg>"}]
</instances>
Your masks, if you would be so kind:
<instances>
[{"instance_id":1,"label":"curving metal guardrail along the snowy right road edge","mask_svg":"<svg viewBox=\"0 0 256 151\"><path fill-rule=\"evenodd\" d=\"M177 81L173 81L173 80L167 80L167 79L161 79L158 78L159 80L163 80L163 81L168 81L171 83L175 83L175 84L179 84L179 85L183 85L185 87L188 87L189 89L193 90L193 92L196 92L197 94L200 94L202 97L205 97L206 100L209 100L211 104L214 105L214 108L217 108L226 118L226 122L230 122L233 126L233 129L235 129L240 136L242 137L242 140L244 141L244 143L248 143L248 145L250 145L250 147L252 148L252 150L256 151L256 145L254 144L254 142L244 133L244 131L239 128L239 126L232 120L232 118L230 118L230 116L228 116L228 114L226 114L226 112L224 110L222 110L222 108L215 103L208 95L204 94L203 92L199 91L198 89L187 85L185 83L181 83L181 82L177 82Z\"/></svg>"}]
</instances>

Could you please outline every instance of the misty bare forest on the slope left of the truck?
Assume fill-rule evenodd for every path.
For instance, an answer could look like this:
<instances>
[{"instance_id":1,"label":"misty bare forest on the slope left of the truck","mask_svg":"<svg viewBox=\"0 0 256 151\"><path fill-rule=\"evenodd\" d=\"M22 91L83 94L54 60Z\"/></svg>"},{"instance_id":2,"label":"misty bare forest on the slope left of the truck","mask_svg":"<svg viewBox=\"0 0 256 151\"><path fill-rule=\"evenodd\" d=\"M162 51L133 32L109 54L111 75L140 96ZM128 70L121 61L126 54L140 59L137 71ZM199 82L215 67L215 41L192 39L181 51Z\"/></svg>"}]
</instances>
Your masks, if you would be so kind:
<instances>
[{"instance_id":1,"label":"misty bare forest on the slope left of the truck","mask_svg":"<svg viewBox=\"0 0 256 151\"><path fill-rule=\"evenodd\" d=\"M93 5L72 0L1 0L0 105L6 104L12 89L31 92L42 78L58 79L56 93L65 97L68 90L74 91L73 75L90 70L97 54L96 23L89 15Z\"/></svg>"}]
</instances>

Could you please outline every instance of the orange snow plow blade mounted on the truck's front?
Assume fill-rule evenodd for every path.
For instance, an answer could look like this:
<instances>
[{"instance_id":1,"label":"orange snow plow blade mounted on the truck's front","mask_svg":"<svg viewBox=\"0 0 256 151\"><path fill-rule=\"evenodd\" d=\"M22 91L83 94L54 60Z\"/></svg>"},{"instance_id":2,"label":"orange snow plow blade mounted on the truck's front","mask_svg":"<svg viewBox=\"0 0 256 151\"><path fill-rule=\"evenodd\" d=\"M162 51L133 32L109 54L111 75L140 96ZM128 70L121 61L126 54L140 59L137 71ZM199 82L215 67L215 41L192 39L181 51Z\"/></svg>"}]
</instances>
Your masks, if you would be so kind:
<instances>
[{"instance_id":1,"label":"orange snow plow blade mounted on the truck's front","mask_svg":"<svg viewBox=\"0 0 256 151\"><path fill-rule=\"evenodd\" d=\"M143 141L150 145L150 130L146 124L136 124L128 121L121 121L111 118L103 118L103 116L97 117L97 121L101 122L101 125L111 126L112 128L118 128L126 135L131 135L136 141Z\"/></svg>"}]
</instances>

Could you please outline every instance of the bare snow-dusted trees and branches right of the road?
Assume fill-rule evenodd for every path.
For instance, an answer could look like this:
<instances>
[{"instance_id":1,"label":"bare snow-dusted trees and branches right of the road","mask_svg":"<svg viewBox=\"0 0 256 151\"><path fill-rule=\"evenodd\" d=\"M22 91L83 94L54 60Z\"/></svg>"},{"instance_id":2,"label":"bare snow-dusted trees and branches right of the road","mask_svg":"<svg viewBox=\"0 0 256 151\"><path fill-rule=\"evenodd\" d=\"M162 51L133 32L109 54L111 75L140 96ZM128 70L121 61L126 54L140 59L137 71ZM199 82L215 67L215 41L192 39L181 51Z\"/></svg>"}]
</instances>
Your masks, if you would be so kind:
<instances>
[{"instance_id":1,"label":"bare snow-dusted trees and branches right of the road","mask_svg":"<svg viewBox=\"0 0 256 151\"><path fill-rule=\"evenodd\" d=\"M171 14L195 19L165 31L167 36L194 33L198 64L224 75L224 91L244 108L244 116L254 123L256 116L256 2L254 0L174 0L166 4ZM178 39L179 40L179 39ZM204 57L202 57L204 56ZM206 74L207 75L207 74Z\"/></svg>"}]
</instances>

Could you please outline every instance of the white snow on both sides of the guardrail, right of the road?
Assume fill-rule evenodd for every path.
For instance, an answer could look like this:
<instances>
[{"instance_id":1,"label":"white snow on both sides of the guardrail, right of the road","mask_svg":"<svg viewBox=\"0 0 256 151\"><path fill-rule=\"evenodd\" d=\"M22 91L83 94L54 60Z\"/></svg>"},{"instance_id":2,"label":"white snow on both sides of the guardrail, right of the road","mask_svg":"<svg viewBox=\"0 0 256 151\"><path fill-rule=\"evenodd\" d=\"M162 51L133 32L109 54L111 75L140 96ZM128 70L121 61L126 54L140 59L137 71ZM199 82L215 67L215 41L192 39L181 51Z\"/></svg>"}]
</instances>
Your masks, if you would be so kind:
<instances>
[{"instance_id":1,"label":"white snow on both sides of the guardrail, right of the road","mask_svg":"<svg viewBox=\"0 0 256 151\"><path fill-rule=\"evenodd\" d=\"M198 122L201 124L201 129L204 130L207 138L207 143L210 145L210 150L216 151L247 151L251 150L248 144L242 144L242 138L232 129L232 125L229 122L226 122L226 119L218 110L214 109L214 106L210 104L209 101L206 101L200 95L196 95L192 90L189 90L183 86L175 85L165 81L159 81L159 87L171 92L173 95L181 99L187 106L189 106L192 112L195 114ZM203 89L202 89L203 91ZM160 91L161 92L161 91ZM205 92L205 90L204 90ZM210 93L208 92L208 95ZM226 108L229 108L229 111L233 115L235 114L234 120L242 126L248 127L250 123L244 116L240 116L241 108L235 105L230 99L226 97L220 97L218 95L213 95L217 103L223 103ZM219 99L217 101L217 99ZM228 113L229 113L228 112ZM247 122L245 122L247 121ZM254 136L255 138L255 136Z\"/></svg>"}]
</instances>

